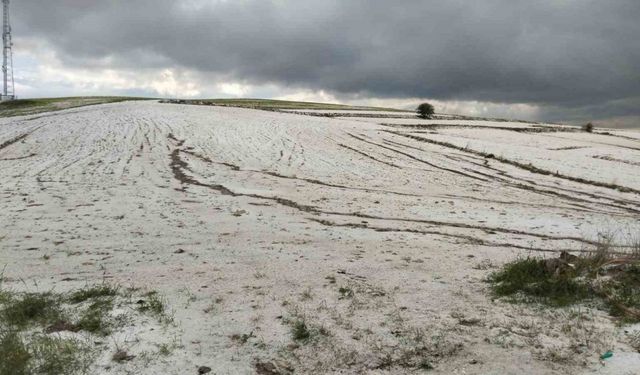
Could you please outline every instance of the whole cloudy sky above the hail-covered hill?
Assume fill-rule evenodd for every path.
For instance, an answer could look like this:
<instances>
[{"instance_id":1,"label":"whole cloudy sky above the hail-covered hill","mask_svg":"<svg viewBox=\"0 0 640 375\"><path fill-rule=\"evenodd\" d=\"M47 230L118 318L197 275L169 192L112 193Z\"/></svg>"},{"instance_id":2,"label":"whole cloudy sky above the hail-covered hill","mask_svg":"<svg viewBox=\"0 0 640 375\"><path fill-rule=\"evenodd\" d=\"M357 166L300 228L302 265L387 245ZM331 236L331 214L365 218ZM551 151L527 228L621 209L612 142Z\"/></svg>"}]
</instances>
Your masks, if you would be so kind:
<instances>
[{"instance_id":1,"label":"whole cloudy sky above the hail-covered hill","mask_svg":"<svg viewBox=\"0 0 640 375\"><path fill-rule=\"evenodd\" d=\"M258 97L640 127L638 0L12 0L20 97Z\"/></svg>"}]
</instances>

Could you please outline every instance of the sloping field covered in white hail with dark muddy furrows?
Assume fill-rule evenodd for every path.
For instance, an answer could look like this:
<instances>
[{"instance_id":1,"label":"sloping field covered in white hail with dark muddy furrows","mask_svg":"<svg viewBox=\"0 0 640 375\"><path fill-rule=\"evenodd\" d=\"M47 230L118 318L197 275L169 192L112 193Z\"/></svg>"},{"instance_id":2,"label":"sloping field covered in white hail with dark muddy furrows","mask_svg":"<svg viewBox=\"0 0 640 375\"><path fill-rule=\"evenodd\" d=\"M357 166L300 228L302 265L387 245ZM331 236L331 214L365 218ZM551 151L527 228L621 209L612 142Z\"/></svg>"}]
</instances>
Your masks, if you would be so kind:
<instances>
[{"instance_id":1,"label":"sloping field covered in white hail with dark muddy furrows","mask_svg":"<svg viewBox=\"0 0 640 375\"><path fill-rule=\"evenodd\" d=\"M163 296L172 322L96 340L92 373L640 366L606 312L578 329L485 282L637 227L637 131L123 102L0 119L0 171L4 288Z\"/></svg>"}]
</instances>

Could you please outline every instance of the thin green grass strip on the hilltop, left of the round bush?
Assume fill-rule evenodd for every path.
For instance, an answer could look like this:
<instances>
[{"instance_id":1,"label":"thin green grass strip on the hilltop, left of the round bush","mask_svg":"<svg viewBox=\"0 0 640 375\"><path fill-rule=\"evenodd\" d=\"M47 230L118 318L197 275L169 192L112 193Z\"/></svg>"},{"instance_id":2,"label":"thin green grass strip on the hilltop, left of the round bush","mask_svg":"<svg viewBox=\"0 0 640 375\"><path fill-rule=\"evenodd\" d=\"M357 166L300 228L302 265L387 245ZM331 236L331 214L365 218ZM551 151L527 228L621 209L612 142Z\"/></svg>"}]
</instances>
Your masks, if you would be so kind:
<instances>
[{"instance_id":1,"label":"thin green grass strip on the hilltop, left of the round bush","mask_svg":"<svg viewBox=\"0 0 640 375\"><path fill-rule=\"evenodd\" d=\"M171 102L171 101L169 101ZM394 108L351 106L344 104L296 102L289 100L272 99L194 99L181 100L185 104L218 105L228 107L256 108L256 109L325 109L325 110L351 110L351 111L392 111L406 112Z\"/></svg>"}]
</instances>

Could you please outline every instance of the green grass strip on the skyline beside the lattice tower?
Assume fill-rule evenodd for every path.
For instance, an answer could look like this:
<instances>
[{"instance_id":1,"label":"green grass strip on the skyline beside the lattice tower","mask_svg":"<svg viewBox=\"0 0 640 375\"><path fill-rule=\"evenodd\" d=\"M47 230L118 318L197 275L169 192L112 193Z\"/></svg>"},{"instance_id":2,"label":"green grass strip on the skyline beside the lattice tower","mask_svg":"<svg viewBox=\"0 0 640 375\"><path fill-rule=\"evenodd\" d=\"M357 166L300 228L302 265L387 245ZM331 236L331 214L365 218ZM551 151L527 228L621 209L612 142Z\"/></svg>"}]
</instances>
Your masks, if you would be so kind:
<instances>
[{"instance_id":1,"label":"green grass strip on the skyline beside the lattice tower","mask_svg":"<svg viewBox=\"0 0 640 375\"><path fill-rule=\"evenodd\" d=\"M59 111L87 105L117 103L126 100L148 100L148 98L123 96L84 96L66 98L19 99L0 103L0 117L33 115Z\"/></svg>"}]
</instances>

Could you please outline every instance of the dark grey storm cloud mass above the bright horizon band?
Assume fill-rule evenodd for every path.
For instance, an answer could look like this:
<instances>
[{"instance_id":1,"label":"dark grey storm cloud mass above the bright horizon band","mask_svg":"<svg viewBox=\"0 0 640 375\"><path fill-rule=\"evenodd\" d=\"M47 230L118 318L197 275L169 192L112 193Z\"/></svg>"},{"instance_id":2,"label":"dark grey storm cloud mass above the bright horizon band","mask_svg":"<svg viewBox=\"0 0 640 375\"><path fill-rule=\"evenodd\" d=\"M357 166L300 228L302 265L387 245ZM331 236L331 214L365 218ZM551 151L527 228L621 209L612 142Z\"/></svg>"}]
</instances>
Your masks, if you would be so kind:
<instances>
[{"instance_id":1,"label":"dark grey storm cloud mass above the bright horizon band","mask_svg":"<svg viewBox=\"0 0 640 375\"><path fill-rule=\"evenodd\" d=\"M15 0L13 8L16 33L46 39L76 65L564 108L640 97L638 0Z\"/></svg>"}]
</instances>

